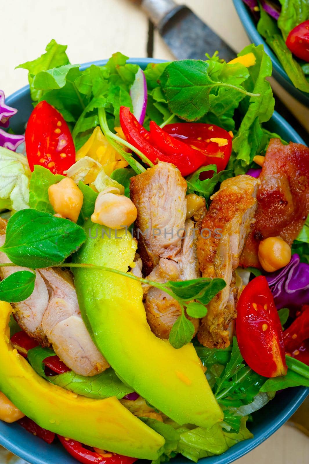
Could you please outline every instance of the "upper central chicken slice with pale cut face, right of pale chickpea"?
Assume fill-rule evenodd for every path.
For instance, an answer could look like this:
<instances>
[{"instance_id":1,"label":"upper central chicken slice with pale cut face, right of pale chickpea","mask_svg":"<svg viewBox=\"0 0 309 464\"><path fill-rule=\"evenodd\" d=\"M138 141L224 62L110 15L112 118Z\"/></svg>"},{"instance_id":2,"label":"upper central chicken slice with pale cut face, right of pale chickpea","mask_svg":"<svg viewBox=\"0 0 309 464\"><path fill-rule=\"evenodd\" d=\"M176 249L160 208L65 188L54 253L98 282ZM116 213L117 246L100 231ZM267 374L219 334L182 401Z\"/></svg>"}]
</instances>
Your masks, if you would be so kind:
<instances>
[{"instance_id":1,"label":"upper central chicken slice with pale cut face, right of pale chickpea","mask_svg":"<svg viewBox=\"0 0 309 464\"><path fill-rule=\"evenodd\" d=\"M160 258L174 258L180 251L179 231L186 220L186 191L187 182L179 169L161 161L131 179L130 198L137 208L139 254L147 274Z\"/></svg>"}]
</instances>

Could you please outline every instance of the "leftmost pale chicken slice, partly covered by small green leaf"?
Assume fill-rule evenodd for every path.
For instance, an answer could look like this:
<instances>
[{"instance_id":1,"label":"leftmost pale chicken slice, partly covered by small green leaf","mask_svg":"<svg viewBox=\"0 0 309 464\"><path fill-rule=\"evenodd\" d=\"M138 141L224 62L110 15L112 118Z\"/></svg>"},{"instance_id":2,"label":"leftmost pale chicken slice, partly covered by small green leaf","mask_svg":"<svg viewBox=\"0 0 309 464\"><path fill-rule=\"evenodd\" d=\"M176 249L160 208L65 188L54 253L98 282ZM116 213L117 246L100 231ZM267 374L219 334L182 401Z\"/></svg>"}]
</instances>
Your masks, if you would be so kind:
<instances>
[{"instance_id":1,"label":"leftmost pale chicken slice, partly covered by small green leaf","mask_svg":"<svg viewBox=\"0 0 309 464\"><path fill-rule=\"evenodd\" d=\"M2 246L6 239L6 224L5 219L0 219L0 246ZM11 263L6 254L0 252L1 263ZM0 267L0 277L5 279L16 271L29 271L25 267ZM43 333L41 322L48 304L48 291L44 280L38 271L35 271L36 278L34 290L25 301L19 303L12 303L15 309L14 317L19 323L19 326L25 332L38 340L38 342L46 343L46 337Z\"/></svg>"}]
</instances>

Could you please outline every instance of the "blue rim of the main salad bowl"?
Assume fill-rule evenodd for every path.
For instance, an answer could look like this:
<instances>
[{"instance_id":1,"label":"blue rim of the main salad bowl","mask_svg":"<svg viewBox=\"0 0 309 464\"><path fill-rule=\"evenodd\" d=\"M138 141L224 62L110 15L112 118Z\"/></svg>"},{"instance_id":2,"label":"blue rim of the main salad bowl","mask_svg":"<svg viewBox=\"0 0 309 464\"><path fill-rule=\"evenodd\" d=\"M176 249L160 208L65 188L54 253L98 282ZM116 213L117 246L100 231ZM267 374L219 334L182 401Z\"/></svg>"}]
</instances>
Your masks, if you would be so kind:
<instances>
[{"instance_id":1,"label":"blue rim of the main salad bowl","mask_svg":"<svg viewBox=\"0 0 309 464\"><path fill-rule=\"evenodd\" d=\"M129 63L139 64L142 68L146 67L148 63L163 63L165 61L166 60L155 59L155 58L129 58L128 60ZM91 64L97 64L99 66L102 66L106 64L106 62L107 60L97 60L97 61L84 63L80 66L80 69L84 70L87 67L89 67ZM21 89L17 90L13 94L11 94L9 97L7 97L6 103L10 105L14 105L14 101L16 99L25 98L28 96L29 96L29 85L26 85L25 87L22 87ZM280 126L284 131L289 132L290 138L294 142L304 143L303 139L297 134L296 130L293 129L290 126L290 124L282 116L280 116L277 113L277 111L274 111L271 121L274 122L276 125ZM288 406L283 407L283 410L280 412L280 414L276 415L275 417L272 417L264 427L266 428L266 430L264 430L263 432L256 433L254 435L254 438L239 442L238 444L234 445L232 448L230 448L228 451L226 451L222 455L213 456L210 458L202 458L200 459L199 463L200 464L230 464L236 459L241 458L242 456L247 454L249 451L256 448L261 443L263 443L264 440L269 438L291 417L291 415L298 409L299 406L301 406L303 401L309 395L309 388L306 388L306 387L297 387L297 388L299 391L297 395L297 399L292 403L292 405L289 404ZM23 433L25 431L21 430L20 432ZM26 433L26 437L28 437L28 432L25 432L25 433ZM9 435L12 435L12 434L14 434L14 429L13 431L11 431L11 433L9 433ZM35 438L35 437L32 438L33 441L36 439L40 440L39 438ZM29 439L27 441L31 441L31 440ZM36 448L38 447L38 442L33 444L33 451L31 451L29 449L25 449L24 446L19 445L19 443L17 443L16 441L13 441L10 437L7 437L6 433L0 431L0 445L4 446L7 450L16 454L20 458L25 459L31 464L45 464L46 463L46 461L42 460L40 456L32 454L33 451L35 452ZM42 446L45 447L46 445L48 446L48 450L52 451L52 449L50 448L50 445L44 444L42 442L39 442L39 445L40 447ZM71 464L71 462L77 462L75 460L72 461L71 460L72 458L69 455L65 454L65 456L67 457L65 461L68 461L68 463ZM174 458L172 462L174 462L175 464L183 464L183 463L187 464L189 461L186 458L177 457L177 458Z\"/></svg>"}]
</instances>

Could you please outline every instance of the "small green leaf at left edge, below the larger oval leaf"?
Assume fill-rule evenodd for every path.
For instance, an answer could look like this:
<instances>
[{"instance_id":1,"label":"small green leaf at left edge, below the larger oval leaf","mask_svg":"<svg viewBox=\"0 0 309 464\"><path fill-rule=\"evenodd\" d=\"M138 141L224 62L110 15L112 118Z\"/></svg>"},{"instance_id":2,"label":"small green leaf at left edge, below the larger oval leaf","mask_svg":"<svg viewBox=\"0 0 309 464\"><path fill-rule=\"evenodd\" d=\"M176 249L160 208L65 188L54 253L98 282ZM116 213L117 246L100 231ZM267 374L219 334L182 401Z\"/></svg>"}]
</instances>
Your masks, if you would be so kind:
<instances>
[{"instance_id":1,"label":"small green leaf at left edge, below the larger oval leaf","mask_svg":"<svg viewBox=\"0 0 309 464\"><path fill-rule=\"evenodd\" d=\"M8 303L24 301L34 290L35 273L31 271L17 271L1 280L0 300Z\"/></svg>"}]
</instances>

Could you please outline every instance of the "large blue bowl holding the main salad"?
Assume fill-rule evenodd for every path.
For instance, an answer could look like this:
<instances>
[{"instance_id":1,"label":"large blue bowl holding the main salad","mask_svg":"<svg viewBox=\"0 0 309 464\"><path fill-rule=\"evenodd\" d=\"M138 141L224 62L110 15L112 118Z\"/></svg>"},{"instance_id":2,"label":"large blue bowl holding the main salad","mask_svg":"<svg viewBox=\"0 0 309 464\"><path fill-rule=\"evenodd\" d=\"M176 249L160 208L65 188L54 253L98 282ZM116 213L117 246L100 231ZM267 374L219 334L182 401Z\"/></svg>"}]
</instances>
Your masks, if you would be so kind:
<instances>
[{"instance_id":1,"label":"large blue bowl holding the main salad","mask_svg":"<svg viewBox=\"0 0 309 464\"><path fill-rule=\"evenodd\" d=\"M148 58L131 58L131 63L137 63L145 68L148 63L162 62L162 60ZM97 61L95 64L103 65L106 61ZM92 63L86 63L81 69L85 69ZM32 111L29 86L18 90L6 99L6 103L17 108L18 113L12 118L12 128L16 131L23 131L25 122ZM276 112L267 124L271 132L277 132L283 139L298 143L303 143L302 138L297 132ZM16 380L18 381L18 379ZM309 388L297 387L289 388L277 394L275 399L270 401L263 409L254 413L254 422L249 424L254 438L238 443L230 448L221 456L201 459L200 464L229 464L240 458L248 451L262 443L266 438L284 424L293 412L302 404L307 397ZM0 421L0 445L3 445L12 453L25 459L31 464L77 464L60 444L47 445L40 438L34 437L26 432L18 424L6 424ZM174 464L188 464L186 458L178 457L172 460Z\"/></svg>"}]
</instances>

